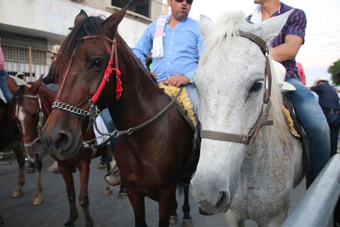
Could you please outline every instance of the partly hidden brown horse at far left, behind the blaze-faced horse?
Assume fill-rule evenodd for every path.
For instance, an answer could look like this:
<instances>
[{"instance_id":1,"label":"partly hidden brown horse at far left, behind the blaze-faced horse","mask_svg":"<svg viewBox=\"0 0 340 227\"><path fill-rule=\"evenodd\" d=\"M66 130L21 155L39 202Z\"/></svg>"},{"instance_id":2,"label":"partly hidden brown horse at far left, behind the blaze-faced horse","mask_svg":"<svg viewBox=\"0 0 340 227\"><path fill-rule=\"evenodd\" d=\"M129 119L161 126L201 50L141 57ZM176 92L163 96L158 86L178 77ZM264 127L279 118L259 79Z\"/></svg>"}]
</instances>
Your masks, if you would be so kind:
<instances>
[{"instance_id":1,"label":"partly hidden brown horse at far left, behind the blaze-faced horse","mask_svg":"<svg viewBox=\"0 0 340 227\"><path fill-rule=\"evenodd\" d=\"M6 77L6 82L8 85L8 89L11 93L14 93L18 86L16 82L10 78ZM2 100L1 100L2 101ZM12 195L12 198L19 198L23 195L22 187L25 184L25 175L24 175L24 168L25 168L25 158L22 149L22 135L17 127L15 121L11 119L10 116L10 105L8 104L0 104L0 125L1 125L1 143L0 143L0 150L2 149L12 149L16 155L18 164L19 164L19 176L18 176L18 185ZM42 152L42 151L41 151ZM27 155L34 156L34 153L27 153ZM36 181L36 188L35 188L35 195L33 198L33 206L38 206L43 201L41 198L41 180L40 180L40 172L41 172L41 159L38 159L35 162L35 168L37 170L37 181Z\"/></svg>"}]
</instances>

